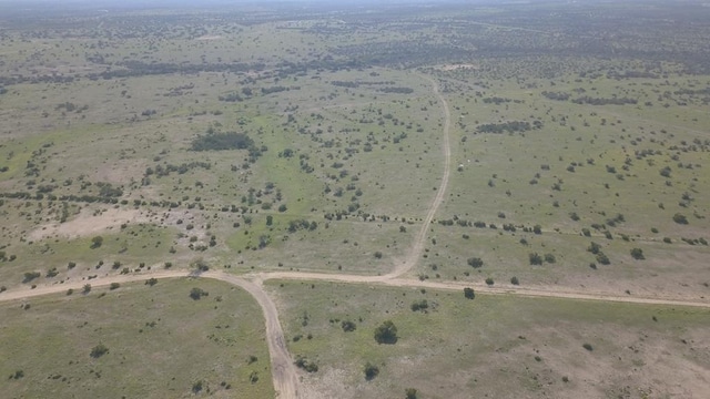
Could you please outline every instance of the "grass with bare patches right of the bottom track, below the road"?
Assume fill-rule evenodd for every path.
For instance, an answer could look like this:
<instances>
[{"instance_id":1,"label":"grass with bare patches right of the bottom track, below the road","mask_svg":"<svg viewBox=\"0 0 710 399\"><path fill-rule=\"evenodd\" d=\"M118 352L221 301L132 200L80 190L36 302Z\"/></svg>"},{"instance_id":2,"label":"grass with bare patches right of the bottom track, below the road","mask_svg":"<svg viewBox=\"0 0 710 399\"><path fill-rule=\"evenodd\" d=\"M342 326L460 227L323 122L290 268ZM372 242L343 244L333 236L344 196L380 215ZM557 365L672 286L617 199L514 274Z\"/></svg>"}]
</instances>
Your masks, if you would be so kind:
<instances>
[{"instance_id":1,"label":"grass with bare patches right of the bottom track, below the road","mask_svg":"<svg viewBox=\"0 0 710 399\"><path fill-rule=\"evenodd\" d=\"M661 382L621 378L615 369L642 362L641 374L663 381L663 372L673 372L683 383L694 380L690 370L709 366L697 351L707 336L707 309L480 294L469 300L459 291L329 283L270 282L267 288L291 352L320 367L306 381L326 396L392 397L407 387L426 397L457 398L604 396L625 386L668 392ZM422 299L427 311L412 311ZM343 320L354 321L356 330L343 331ZM373 338L384 320L397 326L395 345ZM660 364L653 362L657 356ZM369 382L363 374L368 361L381 370ZM569 383L562 382L566 376Z\"/></svg>"}]
</instances>

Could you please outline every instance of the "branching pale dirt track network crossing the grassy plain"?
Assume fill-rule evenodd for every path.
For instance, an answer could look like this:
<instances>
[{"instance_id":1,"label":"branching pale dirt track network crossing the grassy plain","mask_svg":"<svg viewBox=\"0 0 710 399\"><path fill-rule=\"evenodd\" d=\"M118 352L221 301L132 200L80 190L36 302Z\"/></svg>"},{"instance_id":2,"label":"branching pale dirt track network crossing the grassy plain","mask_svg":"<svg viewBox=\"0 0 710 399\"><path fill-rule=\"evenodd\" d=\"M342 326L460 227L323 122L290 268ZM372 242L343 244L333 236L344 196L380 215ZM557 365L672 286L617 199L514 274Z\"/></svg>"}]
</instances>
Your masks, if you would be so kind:
<instances>
[{"instance_id":1,"label":"branching pale dirt track network crossing the grassy plain","mask_svg":"<svg viewBox=\"0 0 710 399\"><path fill-rule=\"evenodd\" d=\"M449 129L450 129L450 112L448 103L438 91L438 84L428 76L422 76L432 83L433 92L438 98L442 104L442 113L444 116L443 129L443 151L444 151L444 173L442 182L439 184L436 196L432 201L429 208L427 209L426 217L419 232L417 233L412 249L405 262L395 266L395 268L382 276L357 276L357 275L344 275L344 274L322 274L322 273L297 273L297 272L275 272L275 273L258 273L250 274L245 276L235 276L222 272L206 272L202 274L189 273L185 270L161 270L151 272L148 274L139 275L114 275L94 278L91 280L78 280L65 282L64 284L54 284L48 286L37 287L30 289L22 287L20 289L12 289L0 294L0 301L8 300L21 300L41 295L64 293L72 288L74 290L81 290L84 284L91 284L92 287L108 286L112 283L130 283L141 282L148 278L214 278L221 282L225 282L235 286L239 286L250 293L254 299L258 303L264 314L266 323L266 341L268 344L268 352L272 366L272 379L274 389L280 398L295 399L302 397L302 392L298 390L298 371L296 370L293 359L286 348L286 340L284 338L281 324L278 321L278 313L271 300L266 291L262 287L262 282L266 279L301 279L301 280L322 280L322 282L336 282L336 283L351 283L351 284L372 284L383 285L390 287L427 287L436 289L454 289L463 290L464 287L471 286L470 284L462 284L456 282L420 282L416 279L400 278L404 274L409 272L417 263L426 242L428 226L434 219L439 205L444 201L446 190L448 186L448 180L450 174L450 143L449 143ZM527 297L552 297L552 298L569 298L569 299L582 299L582 300L606 300L606 301L619 301L619 303L633 303L633 304L652 304L652 305L677 305L677 306L696 306L710 308L710 301L688 301L682 298L641 298L641 297L618 297L604 294L590 294L590 293L575 293L575 291L560 291L560 290L544 290L535 288L494 288L487 286L473 285L473 287L479 293L497 294L497 295L517 295Z\"/></svg>"}]
</instances>

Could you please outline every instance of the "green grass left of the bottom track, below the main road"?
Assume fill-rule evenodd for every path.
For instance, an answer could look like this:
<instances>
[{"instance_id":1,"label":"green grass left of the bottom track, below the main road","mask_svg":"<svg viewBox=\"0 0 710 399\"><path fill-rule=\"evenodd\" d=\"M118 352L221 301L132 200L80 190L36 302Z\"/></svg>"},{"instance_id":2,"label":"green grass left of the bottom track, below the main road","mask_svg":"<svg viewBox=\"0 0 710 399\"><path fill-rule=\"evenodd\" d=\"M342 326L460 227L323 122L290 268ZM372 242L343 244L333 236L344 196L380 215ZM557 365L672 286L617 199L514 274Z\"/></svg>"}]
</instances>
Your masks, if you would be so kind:
<instances>
[{"instance_id":1,"label":"green grass left of the bottom track, below the main road","mask_svg":"<svg viewBox=\"0 0 710 399\"><path fill-rule=\"evenodd\" d=\"M192 287L210 295L193 300ZM94 288L3 303L0 314L12 320L0 327L0 389L7 397L176 398L191 396L199 380L202 395L274 395L261 309L248 294L222 283ZM92 358L100 344L108 354ZM248 364L250 356L257 360ZM7 378L17 370L24 376ZM258 380L252 383L254 371Z\"/></svg>"}]
</instances>

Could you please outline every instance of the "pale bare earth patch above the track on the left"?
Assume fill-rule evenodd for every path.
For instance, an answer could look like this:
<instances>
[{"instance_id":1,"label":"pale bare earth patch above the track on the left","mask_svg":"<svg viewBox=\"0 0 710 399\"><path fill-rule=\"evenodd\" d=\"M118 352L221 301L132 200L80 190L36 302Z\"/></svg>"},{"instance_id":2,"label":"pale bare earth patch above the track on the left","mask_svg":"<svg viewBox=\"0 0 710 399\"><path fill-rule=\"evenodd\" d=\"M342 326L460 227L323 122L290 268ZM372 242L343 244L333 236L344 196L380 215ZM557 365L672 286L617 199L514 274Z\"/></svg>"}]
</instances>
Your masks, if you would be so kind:
<instances>
[{"instance_id":1,"label":"pale bare earth patch above the track on the left","mask_svg":"<svg viewBox=\"0 0 710 399\"><path fill-rule=\"evenodd\" d=\"M65 223L47 224L29 234L32 241L52 236L82 237L108 229L120 228L122 224L144 223L148 216L138 209L108 208L95 211L84 208L79 216Z\"/></svg>"}]
</instances>

